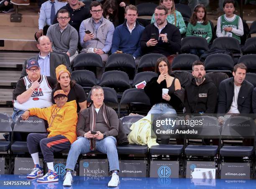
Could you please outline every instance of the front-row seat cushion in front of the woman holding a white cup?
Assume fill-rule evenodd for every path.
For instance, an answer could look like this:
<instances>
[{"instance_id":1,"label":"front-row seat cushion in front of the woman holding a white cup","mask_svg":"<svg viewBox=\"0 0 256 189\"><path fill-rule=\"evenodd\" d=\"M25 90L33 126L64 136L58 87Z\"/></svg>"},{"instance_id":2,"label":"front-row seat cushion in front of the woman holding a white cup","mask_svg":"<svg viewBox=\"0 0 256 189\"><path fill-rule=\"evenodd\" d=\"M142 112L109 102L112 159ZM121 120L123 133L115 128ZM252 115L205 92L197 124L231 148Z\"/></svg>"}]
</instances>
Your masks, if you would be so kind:
<instances>
[{"instance_id":1,"label":"front-row seat cushion in front of the woman holding a white cup","mask_svg":"<svg viewBox=\"0 0 256 189\"><path fill-rule=\"evenodd\" d=\"M149 149L149 153L151 155L173 155L179 156L184 151L183 145L169 145L169 144L161 144L158 146L151 146Z\"/></svg>"}]
</instances>

